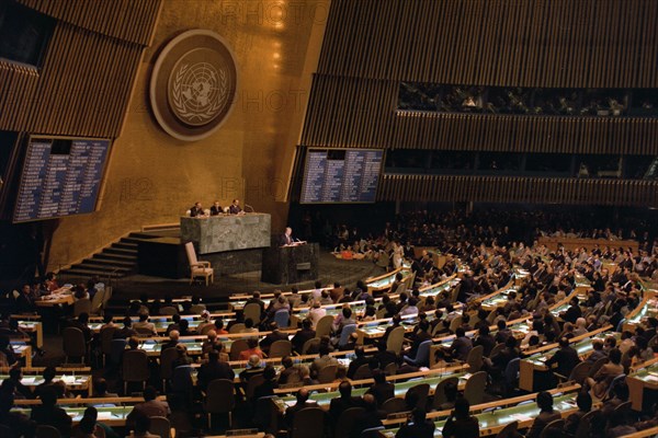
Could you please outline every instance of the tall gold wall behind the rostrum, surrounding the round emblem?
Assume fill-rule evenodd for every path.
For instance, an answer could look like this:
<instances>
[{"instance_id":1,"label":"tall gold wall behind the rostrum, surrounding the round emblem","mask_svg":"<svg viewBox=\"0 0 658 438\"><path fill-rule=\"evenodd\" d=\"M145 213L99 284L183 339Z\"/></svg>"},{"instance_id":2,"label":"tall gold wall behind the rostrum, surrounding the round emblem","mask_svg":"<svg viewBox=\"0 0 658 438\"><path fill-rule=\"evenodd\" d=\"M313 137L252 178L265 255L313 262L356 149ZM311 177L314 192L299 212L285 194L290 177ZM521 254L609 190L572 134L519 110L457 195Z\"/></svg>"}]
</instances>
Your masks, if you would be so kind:
<instances>
[{"instance_id":1,"label":"tall gold wall behind the rostrum, surrounding the round emblem","mask_svg":"<svg viewBox=\"0 0 658 438\"><path fill-rule=\"evenodd\" d=\"M138 65L123 130L113 145L99 211L61 219L50 267L75 262L144 224L178 222L196 200L238 197L286 224L287 175L317 67L327 1L164 0L152 44ZM159 50L190 28L231 46L239 70L236 107L211 137L183 142L157 125L148 103ZM68 244L76 242L75 245Z\"/></svg>"}]
</instances>

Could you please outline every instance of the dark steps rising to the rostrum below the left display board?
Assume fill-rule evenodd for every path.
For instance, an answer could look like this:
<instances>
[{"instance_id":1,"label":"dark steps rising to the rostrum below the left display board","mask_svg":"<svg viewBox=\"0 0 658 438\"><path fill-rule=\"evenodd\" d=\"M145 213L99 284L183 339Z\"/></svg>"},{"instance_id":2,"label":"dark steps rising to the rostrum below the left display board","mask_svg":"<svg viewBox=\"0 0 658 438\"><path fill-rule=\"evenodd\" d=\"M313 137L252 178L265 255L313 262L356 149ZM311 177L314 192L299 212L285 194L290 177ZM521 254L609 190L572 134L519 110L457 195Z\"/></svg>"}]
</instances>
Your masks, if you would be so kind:
<instances>
[{"instance_id":1,"label":"dark steps rising to the rostrum below the left display board","mask_svg":"<svg viewBox=\"0 0 658 438\"><path fill-rule=\"evenodd\" d=\"M168 230L167 233L170 234L171 231ZM77 283L71 280L87 280L93 276L99 276L101 279L115 279L135 274L137 273L137 245L139 242L161 235L162 233L158 230L132 232L82 262L60 270L58 276L68 283Z\"/></svg>"}]
</instances>

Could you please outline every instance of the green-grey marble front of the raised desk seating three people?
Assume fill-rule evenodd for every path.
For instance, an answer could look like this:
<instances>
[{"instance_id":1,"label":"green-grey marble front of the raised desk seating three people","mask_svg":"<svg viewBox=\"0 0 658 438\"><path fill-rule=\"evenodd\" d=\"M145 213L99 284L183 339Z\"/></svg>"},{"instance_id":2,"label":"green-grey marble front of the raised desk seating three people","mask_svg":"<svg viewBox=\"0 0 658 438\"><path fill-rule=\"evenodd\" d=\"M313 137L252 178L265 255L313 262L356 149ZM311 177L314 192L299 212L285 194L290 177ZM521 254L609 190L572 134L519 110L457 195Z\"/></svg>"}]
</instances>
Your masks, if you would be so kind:
<instances>
[{"instance_id":1,"label":"green-grey marble front of the raised desk seating three people","mask_svg":"<svg viewBox=\"0 0 658 438\"><path fill-rule=\"evenodd\" d=\"M268 214L181 218L181 241L193 242L198 254L270 246L272 218Z\"/></svg>"}]
</instances>

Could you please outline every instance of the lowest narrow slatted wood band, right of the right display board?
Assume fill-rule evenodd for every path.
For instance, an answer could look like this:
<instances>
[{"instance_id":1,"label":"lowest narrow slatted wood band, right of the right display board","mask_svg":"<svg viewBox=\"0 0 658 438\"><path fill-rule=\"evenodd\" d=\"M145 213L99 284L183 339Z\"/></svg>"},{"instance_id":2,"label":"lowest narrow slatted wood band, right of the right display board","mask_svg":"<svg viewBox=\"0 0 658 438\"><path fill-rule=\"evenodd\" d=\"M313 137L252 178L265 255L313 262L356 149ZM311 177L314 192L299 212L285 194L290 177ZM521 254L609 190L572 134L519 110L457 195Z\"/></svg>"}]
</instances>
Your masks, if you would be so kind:
<instances>
[{"instance_id":1,"label":"lowest narrow slatted wood band, right of the right display board","mask_svg":"<svg viewBox=\"0 0 658 438\"><path fill-rule=\"evenodd\" d=\"M658 207L658 182L388 174L377 199Z\"/></svg>"}]
</instances>

